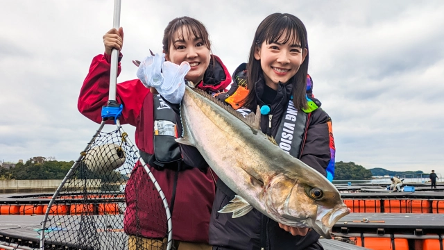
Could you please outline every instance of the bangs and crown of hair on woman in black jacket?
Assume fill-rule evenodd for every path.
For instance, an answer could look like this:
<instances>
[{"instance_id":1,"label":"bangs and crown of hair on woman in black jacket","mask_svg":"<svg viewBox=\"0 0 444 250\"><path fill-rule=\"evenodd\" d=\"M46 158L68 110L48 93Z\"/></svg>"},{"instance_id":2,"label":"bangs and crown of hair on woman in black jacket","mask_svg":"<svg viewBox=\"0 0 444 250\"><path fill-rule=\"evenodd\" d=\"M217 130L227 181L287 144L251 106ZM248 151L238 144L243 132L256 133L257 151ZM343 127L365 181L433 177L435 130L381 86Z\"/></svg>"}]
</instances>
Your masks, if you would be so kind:
<instances>
[{"instance_id":1,"label":"bangs and crown of hair on woman in black jacket","mask_svg":"<svg viewBox=\"0 0 444 250\"><path fill-rule=\"evenodd\" d=\"M277 17L274 22L266 27L264 32L264 38L259 41L262 44L264 40L267 44L278 42L280 44L286 44L289 42L291 45L300 45L300 47L307 47L307 33L305 26L302 22L298 22L287 15Z\"/></svg>"}]
</instances>

